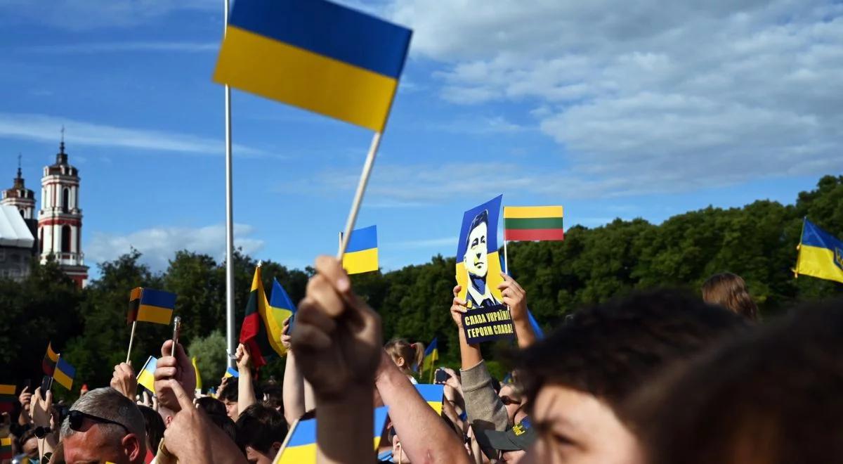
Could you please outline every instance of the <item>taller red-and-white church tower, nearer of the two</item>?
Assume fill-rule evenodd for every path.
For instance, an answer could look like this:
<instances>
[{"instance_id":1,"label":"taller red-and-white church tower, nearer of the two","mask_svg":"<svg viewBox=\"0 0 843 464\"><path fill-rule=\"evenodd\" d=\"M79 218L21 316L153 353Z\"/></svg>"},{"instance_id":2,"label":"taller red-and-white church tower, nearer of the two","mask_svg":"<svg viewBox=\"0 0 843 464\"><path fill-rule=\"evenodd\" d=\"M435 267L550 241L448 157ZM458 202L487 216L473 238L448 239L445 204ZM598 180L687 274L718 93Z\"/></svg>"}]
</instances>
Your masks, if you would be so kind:
<instances>
[{"instance_id":1,"label":"taller red-and-white church tower, nearer of the two","mask_svg":"<svg viewBox=\"0 0 843 464\"><path fill-rule=\"evenodd\" d=\"M79 171L67 163L63 128L56 163L46 166L44 177L41 178L38 242L42 263L52 255L62 271L80 287L87 283L88 267L85 266L82 252Z\"/></svg>"}]
</instances>

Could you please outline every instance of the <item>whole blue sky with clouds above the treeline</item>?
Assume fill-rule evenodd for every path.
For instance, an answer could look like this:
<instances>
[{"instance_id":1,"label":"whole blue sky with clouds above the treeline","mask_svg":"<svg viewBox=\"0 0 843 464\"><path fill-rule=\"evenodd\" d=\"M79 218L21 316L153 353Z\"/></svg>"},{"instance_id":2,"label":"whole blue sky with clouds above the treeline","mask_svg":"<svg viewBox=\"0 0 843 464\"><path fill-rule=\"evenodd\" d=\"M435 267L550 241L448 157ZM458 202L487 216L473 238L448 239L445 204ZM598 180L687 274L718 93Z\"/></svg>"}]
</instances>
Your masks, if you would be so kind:
<instances>
[{"instance_id":1,"label":"whole blue sky with clouds above the treeline","mask_svg":"<svg viewBox=\"0 0 843 464\"><path fill-rule=\"evenodd\" d=\"M130 246L156 270L223 256L221 4L0 1L0 179L20 153L40 192L67 127L92 267ZM566 227L658 223L843 169L840 3L346 4L415 31L358 219L386 269L454 255L463 211L498 193L562 204ZM292 267L335 252L371 132L233 107L238 244Z\"/></svg>"}]
</instances>

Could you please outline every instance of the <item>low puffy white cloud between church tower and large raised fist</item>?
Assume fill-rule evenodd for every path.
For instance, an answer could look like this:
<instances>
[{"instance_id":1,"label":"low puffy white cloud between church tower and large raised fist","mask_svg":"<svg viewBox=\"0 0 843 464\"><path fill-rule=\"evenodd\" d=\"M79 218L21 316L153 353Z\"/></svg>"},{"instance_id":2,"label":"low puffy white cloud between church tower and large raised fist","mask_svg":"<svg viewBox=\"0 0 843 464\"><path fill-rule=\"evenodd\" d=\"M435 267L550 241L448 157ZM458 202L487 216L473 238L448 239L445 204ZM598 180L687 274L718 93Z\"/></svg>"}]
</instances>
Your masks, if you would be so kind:
<instances>
[{"instance_id":1,"label":"low puffy white cloud between church tower and large raised fist","mask_svg":"<svg viewBox=\"0 0 843 464\"><path fill-rule=\"evenodd\" d=\"M234 224L234 246L242 247L245 254L259 251L264 241L252 235L255 228L246 224ZM89 264L115 260L132 251L142 253L141 261L153 272L164 271L176 251L187 250L213 256L217 262L225 258L225 225L207 227L155 227L132 232L129 235L94 232L94 237L85 244L85 257Z\"/></svg>"}]
</instances>

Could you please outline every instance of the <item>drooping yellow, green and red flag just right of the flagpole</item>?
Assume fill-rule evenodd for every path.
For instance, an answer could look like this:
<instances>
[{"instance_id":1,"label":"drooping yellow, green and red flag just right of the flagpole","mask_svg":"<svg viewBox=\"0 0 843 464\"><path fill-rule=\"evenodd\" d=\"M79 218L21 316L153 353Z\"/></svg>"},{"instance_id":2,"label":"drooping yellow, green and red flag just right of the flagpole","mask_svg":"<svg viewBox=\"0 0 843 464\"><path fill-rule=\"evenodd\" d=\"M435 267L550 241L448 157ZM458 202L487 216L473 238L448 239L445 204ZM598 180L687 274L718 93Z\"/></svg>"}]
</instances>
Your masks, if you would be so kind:
<instances>
[{"instance_id":1,"label":"drooping yellow, green and red flag just right of the flagpole","mask_svg":"<svg viewBox=\"0 0 843 464\"><path fill-rule=\"evenodd\" d=\"M260 266L255 267L249 302L246 304L246 316L240 327L240 343L249 348L252 365L258 369L266 364L275 354L286 353L281 344L282 321L276 321L269 309L263 281L260 278Z\"/></svg>"}]
</instances>

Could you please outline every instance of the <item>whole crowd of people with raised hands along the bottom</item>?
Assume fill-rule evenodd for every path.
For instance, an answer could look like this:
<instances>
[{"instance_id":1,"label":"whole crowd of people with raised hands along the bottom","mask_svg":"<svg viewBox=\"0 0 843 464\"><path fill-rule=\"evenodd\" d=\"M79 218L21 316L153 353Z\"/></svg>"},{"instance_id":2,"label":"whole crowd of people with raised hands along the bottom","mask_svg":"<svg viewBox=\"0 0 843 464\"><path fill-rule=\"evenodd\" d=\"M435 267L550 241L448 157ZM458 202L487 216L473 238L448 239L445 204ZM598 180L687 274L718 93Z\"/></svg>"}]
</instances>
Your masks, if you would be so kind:
<instances>
[{"instance_id":1,"label":"whole crowd of people with raised hands along the bottom","mask_svg":"<svg viewBox=\"0 0 843 464\"><path fill-rule=\"evenodd\" d=\"M24 388L19 413L5 417L15 460L263 464L297 421L316 418L320 463L843 461L841 301L762 322L743 279L723 273L702 299L631 294L573 311L542 338L525 290L505 276L518 343L500 381L466 340L458 286L450 313L460 368L438 375L439 414L414 386L421 344L384 344L379 313L341 262L322 256L315 270L295 330L280 340L280 385L260 384L240 345L239 376L223 378L215 397L196 394L191 359L168 340L154 396L137 396L131 364L70 407ZM389 418L374 449L380 406Z\"/></svg>"}]
</instances>

